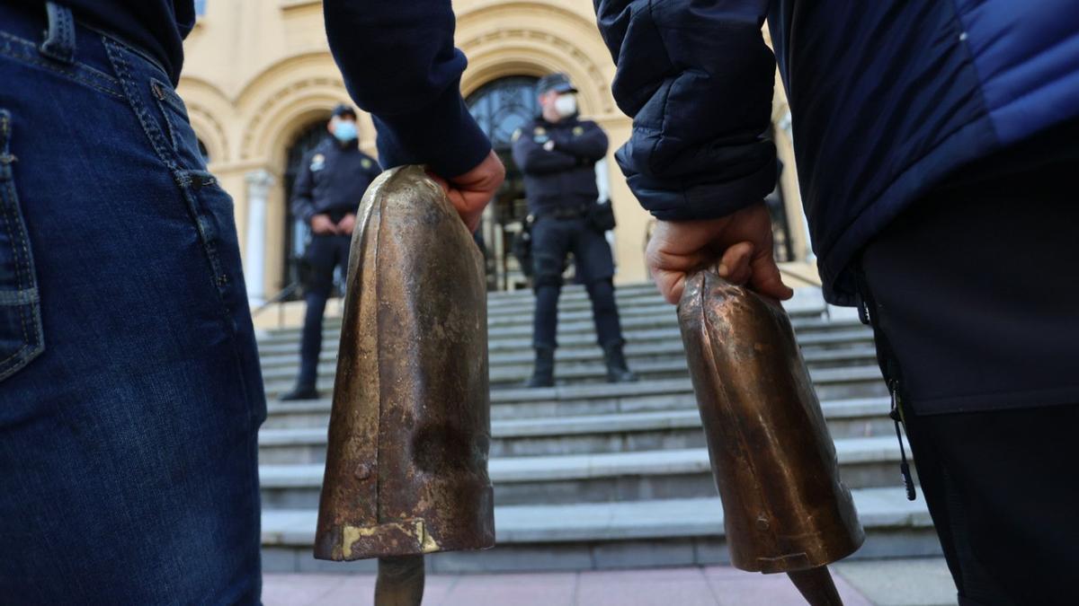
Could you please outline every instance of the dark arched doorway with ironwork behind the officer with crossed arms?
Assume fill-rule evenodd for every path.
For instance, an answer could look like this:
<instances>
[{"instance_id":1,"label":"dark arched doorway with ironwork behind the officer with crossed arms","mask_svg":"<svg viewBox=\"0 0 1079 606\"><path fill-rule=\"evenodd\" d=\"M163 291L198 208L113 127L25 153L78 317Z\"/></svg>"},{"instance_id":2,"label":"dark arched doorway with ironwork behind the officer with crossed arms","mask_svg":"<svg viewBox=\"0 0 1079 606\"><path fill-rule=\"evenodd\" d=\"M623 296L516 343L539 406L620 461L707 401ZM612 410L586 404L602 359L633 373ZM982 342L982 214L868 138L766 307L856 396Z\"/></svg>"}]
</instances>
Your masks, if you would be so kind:
<instances>
[{"instance_id":1,"label":"dark arched doorway with ironwork behind the officer with crossed arms","mask_svg":"<svg viewBox=\"0 0 1079 606\"><path fill-rule=\"evenodd\" d=\"M506 181L483 214L480 226L491 290L516 290L528 284L517 259L509 253L513 239L529 214L524 180L514 164L510 147L514 132L540 113L536 82L536 78L527 75L502 78L481 86L466 101L506 165Z\"/></svg>"}]
</instances>

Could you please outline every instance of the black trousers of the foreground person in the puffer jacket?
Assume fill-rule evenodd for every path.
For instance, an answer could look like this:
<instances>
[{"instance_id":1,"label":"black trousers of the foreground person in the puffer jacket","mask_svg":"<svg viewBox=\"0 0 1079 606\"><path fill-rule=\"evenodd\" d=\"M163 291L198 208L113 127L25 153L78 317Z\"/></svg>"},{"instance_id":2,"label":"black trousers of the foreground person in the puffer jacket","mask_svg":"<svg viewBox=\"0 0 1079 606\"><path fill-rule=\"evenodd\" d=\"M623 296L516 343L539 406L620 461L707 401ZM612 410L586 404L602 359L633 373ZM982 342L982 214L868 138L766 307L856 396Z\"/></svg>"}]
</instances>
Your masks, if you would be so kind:
<instances>
[{"instance_id":1,"label":"black trousers of the foreground person in the puffer jacket","mask_svg":"<svg viewBox=\"0 0 1079 606\"><path fill-rule=\"evenodd\" d=\"M882 370L960 604L1079 604L1071 174L941 190L863 253Z\"/></svg>"}]
</instances>

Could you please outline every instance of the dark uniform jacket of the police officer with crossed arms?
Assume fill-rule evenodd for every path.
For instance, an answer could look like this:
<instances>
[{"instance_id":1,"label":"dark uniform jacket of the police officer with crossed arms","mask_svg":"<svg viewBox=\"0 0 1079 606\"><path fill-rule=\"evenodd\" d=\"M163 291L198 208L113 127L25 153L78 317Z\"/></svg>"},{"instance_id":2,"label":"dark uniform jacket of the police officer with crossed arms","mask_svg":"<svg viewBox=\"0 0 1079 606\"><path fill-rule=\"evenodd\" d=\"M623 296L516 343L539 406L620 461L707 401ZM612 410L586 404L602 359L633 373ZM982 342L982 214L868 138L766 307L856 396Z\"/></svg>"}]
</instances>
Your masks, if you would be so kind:
<instances>
[{"instance_id":1,"label":"dark uniform jacket of the police officer with crossed arms","mask_svg":"<svg viewBox=\"0 0 1079 606\"><path fill-rule=\"evenodd\" d=\"M544 144L554 141L554 149ZM529 211L584 207L596 201L596 163L606 155L607 137L590 120L550 123L537 118L514 134L514 162L524 173Z\"/></svg>"}]
</instances>

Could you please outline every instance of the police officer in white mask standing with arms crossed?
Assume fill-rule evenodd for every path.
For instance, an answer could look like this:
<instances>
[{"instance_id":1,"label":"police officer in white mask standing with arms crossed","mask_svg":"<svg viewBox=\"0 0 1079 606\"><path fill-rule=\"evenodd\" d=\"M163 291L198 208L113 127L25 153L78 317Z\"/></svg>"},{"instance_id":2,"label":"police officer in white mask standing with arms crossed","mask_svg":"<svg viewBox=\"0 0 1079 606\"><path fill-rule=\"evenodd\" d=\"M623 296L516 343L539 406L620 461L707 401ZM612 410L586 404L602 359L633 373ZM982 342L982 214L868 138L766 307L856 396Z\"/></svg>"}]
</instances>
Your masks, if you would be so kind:
<instances>
[{"instance_id":1,"label":"police officer in white mask standing with arms crossed","mask_svg":"<svg viewBox=\"0 0 1079 606\"><path fill-rule=\"evenodd\" d=\"M514 134L514 161L524 173L529 211L533 216L533 320L535 367L529 387L555 384L555 334L558 295L565 256L573 252L577 281L588 289L596 334L603 348L607 381L637 377L626 367L622 327L614 300L614 260L603 232L588 220L597 204L596 163L606 155L607 138L591 121L577 116L576 88L564 73L540 80L542 113Z\"/></svg>"}]
</instances>

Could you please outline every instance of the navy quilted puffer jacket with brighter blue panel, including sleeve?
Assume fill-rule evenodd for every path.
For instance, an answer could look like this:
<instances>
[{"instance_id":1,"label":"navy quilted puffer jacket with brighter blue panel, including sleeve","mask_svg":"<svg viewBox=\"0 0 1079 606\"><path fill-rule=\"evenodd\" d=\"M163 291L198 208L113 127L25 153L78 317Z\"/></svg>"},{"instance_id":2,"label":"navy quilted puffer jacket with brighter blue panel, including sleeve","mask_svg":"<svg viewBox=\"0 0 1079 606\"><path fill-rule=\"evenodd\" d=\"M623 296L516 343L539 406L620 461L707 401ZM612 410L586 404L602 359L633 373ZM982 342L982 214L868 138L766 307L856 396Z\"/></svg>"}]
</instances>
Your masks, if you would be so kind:
<instances>
[{"instance_id":1,"label":"navy quilted puffer jacket with brighter blue panel, including sleeve","mask_svg":"<svg viewBox=\"0 0 1079 606\"><path fill-rule=\"evenodd\" d=\"M960 166L1079 116L1074 0L595 0L633 116L616 157L664 220L775 183L775 74L825 297L853 302L866 242Z\"/></svg>"}]
</instances>

